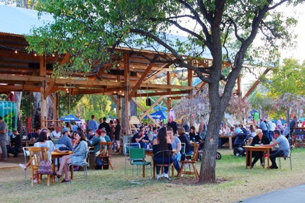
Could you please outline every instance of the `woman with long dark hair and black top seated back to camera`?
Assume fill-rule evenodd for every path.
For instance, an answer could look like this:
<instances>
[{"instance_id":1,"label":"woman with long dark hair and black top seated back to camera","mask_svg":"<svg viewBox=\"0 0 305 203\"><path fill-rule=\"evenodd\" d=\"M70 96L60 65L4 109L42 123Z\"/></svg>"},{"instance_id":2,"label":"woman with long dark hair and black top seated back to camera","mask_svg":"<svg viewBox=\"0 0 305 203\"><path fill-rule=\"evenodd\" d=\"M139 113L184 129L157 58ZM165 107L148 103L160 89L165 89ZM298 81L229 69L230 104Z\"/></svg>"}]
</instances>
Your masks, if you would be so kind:
<instances>
[{"instance_id":1,"label":"woman with long dark hair and black top seated back to camera","mask_svg":"<svg viewBox=\"0 0 305 203\"><path fill-rule=\"evenodd\" d=\"M165 158L167 158L167 157L172 158L172 155L168 154L168 156L164 156L162 153L158 153L159 151L163 151L163 150L172 151L172 144L170 142L170 139L166 135L165 127L160 128L160 130L157 134L157 138L153 140L154 161L155 161L155 163L160 163L160 164L161 163L172 163L173 160L165 160ZM161 179L160 166L156 166L156 172L157 172L157 180L160 180ZM164 167L164 177L167 178L167 180L170 180L170 177L168 176L168 166Z\"/></svg>"}]
</instances>

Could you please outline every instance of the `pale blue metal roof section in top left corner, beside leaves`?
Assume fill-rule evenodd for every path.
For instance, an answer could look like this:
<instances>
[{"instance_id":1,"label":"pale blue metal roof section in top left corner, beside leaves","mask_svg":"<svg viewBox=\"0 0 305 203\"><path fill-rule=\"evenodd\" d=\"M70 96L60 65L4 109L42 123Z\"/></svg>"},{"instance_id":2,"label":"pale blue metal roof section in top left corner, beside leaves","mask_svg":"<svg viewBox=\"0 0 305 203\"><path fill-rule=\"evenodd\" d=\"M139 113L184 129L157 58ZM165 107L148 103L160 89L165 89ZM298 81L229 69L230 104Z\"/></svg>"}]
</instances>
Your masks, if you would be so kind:
<instances>
[{"instance_id":1,"label":"pale blue metal roof section in top left corner, beside leaves","mask_svg":"<svg viewBox=\"0 0 305 203\"><path fill-rule=\"evenodd\" d=\"M38 28L44 21L54 21L50 13L43 13L38 19L38 11L5 5L0 5L0 19L0 33L15 35L28 35L33 26Z\"/></svg>"}]
</instances>

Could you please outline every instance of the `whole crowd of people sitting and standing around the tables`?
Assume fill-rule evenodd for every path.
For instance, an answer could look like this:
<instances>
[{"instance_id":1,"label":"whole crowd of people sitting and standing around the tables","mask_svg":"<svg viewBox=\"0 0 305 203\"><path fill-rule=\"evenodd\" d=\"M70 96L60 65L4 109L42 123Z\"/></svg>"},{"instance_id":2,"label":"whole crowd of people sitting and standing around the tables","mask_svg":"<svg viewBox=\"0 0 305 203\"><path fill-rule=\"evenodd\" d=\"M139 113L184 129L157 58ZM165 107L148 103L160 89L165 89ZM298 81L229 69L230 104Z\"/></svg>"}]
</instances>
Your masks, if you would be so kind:
<instances>
[{"instance_id":1,"label":"whole crowd of people sitting and standing around the tables","mask_svg":"<svg viewBox=\"0 0 305 203\"><path fill-rule=\"evenodd\" d=\"M272 147L272 150L270 151L272 166L270 166L270 168L277 168L275 158L289 154L290 144L288 138L292 137L294 127L305 125L305 121L303 123L298 121L296 116L287 124L282 124L282 120L282 117L279 117L277 122L261 119L257 124L250 124L245 127L243 124L235 124L232 127L229 127L226 122L222 122L221 127L219 128L219 135L230 136L247 134L248 145ZM174 151L173 154L175 158L172 158L172 163L177 172L179 172L179 161L182 158L182 153L185 152L183 157L192 155L194 148L191 141L203 142L206 137L207 128L208 125L204 121L199 123L198 130L196 130L194 126L189 126L189 122L184 121L178 124L170 118L167 124L162 124L162 126L158 128L153 126L140 126L139 129L134 132L131 142L140 144L140 147L143 149L152 149L154 154L163 150ZM9 135L8 139L4 139L6 133ZM95 116L92 115L91 120L89 120L87 124L82 124L82 126L73 123L62 128L62 130L60 130L60 127L55 127L51 132L48 129L33 129L32 132L28 134L27 139L36 141L34 146L48 146L50 153L52 153L52 151L60 152L63 150L62 148L66 151L73 151L72 154L63 156L60 163L60 169L54 173L54 175L60 177L61 171L64 170L65 179L62 180L62 182L69 182L67 164L83 161L84 152L88 146L94 146L94 153L90 155L92 156L90 160L95 160L96 156L99 156L100 141L113 142L113 152L119 152L121 134L122 128L118 119L114 122L113 120L107 122L106 117L104 117L103 119L100 118L98 123L95 120ZM58 147L55 147L51 141L52 139L58 139L56 145ZM222 141L222 139L219 139L218 146L221 147ZM183 150L182 143L184 143ZM8 130L2 117L0 117L0 144L1 161L7 160L8 153L13 154L14 157L18 156L21 147L21 135L18 134L17 130L13 130L13 132ZM60 148L62 150L60 150ZM253 168L255 163L260 161L260 165L265 166L263 156L265 156L265 153L261 151L255 152L253 154L253 161L248 160L248 164ZM155 161L158 161L157 157ZM24 170L26 170L29 165L30 163L20 164L21 168ZM90 163L89 168L93 168L93 166L94 163ZM170 180L167 167L165 167L162 172L160 171L160 168L156 168L156 170L157 180L160 180L163 177Z\"/></svg>"}]
</instances>

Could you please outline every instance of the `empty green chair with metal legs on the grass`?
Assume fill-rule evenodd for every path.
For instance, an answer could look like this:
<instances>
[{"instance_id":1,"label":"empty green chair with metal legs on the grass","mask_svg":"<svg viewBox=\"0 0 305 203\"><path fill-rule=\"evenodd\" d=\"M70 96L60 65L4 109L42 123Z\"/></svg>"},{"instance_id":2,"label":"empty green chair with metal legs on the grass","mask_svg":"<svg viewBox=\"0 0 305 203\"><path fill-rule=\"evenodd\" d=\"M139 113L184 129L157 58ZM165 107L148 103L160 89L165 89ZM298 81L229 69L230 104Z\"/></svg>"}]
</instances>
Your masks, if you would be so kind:
<instances>
[{"instance_id":1,"label":"empty green chair with metal legs on the grass","mask_svg":"<svg viewBox=\"0 0 305 203\"><path fill-rule=\"evenodd\" d=\"M150 180L152 179L152 164L151 162L148 162L145 160L145 149L138 149L138 148L131 148L129 149L130 153L130 162L132 166L137 166L137 178L136 181L133 181L131 183L136 183L136 184L143 184L145 182L139 182L138 181L138 171L139 171L139 166L148 166L150 165ZM139 161L142 160L142 161ZM145 173L145 170L143 171ZM149 182L150 180L146 181Z\"/></svg>"}]
</instances>

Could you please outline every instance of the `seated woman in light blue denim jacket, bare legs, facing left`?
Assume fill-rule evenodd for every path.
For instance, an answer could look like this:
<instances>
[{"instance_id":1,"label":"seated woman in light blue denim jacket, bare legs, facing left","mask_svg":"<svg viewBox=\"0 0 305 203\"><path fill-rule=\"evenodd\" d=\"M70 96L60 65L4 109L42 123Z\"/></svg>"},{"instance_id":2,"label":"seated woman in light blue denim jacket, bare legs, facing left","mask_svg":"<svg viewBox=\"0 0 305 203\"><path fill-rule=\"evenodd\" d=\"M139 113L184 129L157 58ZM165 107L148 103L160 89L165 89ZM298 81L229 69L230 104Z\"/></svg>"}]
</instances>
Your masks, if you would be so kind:
<instances>
[{"instance_id":1,"label":"seated woman in light blue denim jacket, bare legs, facing left","mask_svg":"<svg viewBox=\"0 0 305 203\"><path fill-rule=\"evenodd\" d=\"M62 176L62 169L65 171L65 179L62 182L70 182L68 175L67 165L70 163L84 163L84 158L86 157L87 152L87 139L83 132L77 132L75 136L75 141L72 146L73 153L62 156L62 161L60 161L60 168L57 172L54 172L53 175L57 175L57 178Z\"/></svg>"}]
</instances>

